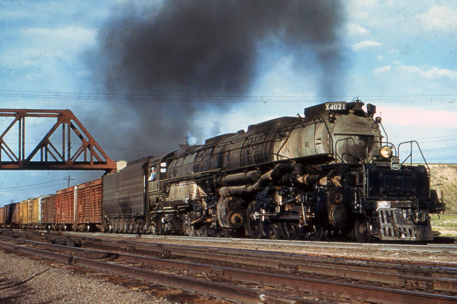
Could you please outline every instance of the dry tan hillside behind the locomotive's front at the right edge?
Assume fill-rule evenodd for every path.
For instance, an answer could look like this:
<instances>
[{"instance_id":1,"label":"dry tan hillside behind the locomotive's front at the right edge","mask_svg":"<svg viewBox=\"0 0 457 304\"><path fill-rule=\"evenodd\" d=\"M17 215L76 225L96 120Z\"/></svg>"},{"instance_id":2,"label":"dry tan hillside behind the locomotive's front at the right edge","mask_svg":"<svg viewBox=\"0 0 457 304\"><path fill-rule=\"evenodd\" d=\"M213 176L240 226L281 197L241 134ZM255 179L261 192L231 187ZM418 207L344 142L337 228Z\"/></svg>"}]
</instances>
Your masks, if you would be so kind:
<instances>
[{"instance_id":1,"label":"dry tan hillside behind the locomotive's front at the right edge","mask_svg":"<svg viewBox=\"0 0 457 304\"><path fill-rule=\"evenodd\" d=\"M431 189L443 192L443 200L446 203L446 215L457 215L457 163L429 164Z\"/></svg>"}]
</instances>

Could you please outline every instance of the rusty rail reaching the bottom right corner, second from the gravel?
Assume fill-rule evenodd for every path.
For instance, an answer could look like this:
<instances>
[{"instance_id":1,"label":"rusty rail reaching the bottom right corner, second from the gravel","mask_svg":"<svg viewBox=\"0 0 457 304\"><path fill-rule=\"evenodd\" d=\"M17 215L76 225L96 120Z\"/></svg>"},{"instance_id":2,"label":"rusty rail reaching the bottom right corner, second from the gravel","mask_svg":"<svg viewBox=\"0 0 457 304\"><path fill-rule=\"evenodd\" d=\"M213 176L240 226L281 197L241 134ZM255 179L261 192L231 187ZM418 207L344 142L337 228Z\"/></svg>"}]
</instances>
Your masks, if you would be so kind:
<instances>
[{"instance_id":1,"label":"rusty rail reaching the bottom right corner, second from the gravel","mask_svg":"<svg viewBox=\"0 0 457 304\"><path fill-rule=\"evenodd\" d=\"M13 239L11 239L13 240ZM449 301L456 301L457 297L443 296L437 294L419 293L413 291L405 291L392 288L384 287L372 287L359 284L333 282L322 279L314 278L301 278L297 276L283 275L283 274L271 274L271 273L260 273L255 271L232 269L227 267L208 266L197 263L187 263L179 261L170 261L164 259L157 259L151 257L142 257L135 255L128 255L114 252L103 252L98 250L88 250L82 248L66 247L60 245L53 245L48 243L41 243L28 240L18 240L24 243L45 246L50 249L59 249L64 251L79 252L79 253L90 253L95 254L97 257L116 257L123 261L134 262L134 263L145 263L154 265L155 267L166 267L171 269L182 269L194 272L218 272L224 277L229 277L234 280L248 281L250 283L263 283L272 286L287 286L289 288L296 288L306 292L317 292L325 291L327 294L339 294L343 296L349 296L351 298L364 299L365 301L377 301L383 299L383 303L406 303L406 304L417 304L421 301L433 301L433 303L451 303ZM0 243L2 245L4 243ZM17 245L16 245L17 246ZM21 246L19 246L21 247ZM72 257L72 261L78 259ZM452 280L448 280L452 281Z\"/></svg>"}]
</instances>

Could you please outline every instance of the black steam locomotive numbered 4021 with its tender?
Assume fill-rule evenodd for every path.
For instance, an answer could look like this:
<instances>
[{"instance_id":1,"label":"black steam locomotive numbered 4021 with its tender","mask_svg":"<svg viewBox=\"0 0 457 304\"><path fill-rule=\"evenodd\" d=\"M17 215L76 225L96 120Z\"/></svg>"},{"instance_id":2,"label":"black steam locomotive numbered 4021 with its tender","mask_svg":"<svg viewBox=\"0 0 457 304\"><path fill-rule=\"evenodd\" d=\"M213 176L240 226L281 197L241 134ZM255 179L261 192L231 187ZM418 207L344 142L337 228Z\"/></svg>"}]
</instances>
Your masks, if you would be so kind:
<instances>
[{"instance_id":1,"label":"black steam locomotive numbered 4021 with its tender","mask_svg":"<svg viewBox=\"0 0 457 304\"><path fill-rule=\"evenodd\" d=\"M265 121L130 162L103 177L103 227L290 240L349 234L360 242L432 240L430 213L445 204L430 190L428 167L400 163L405 143L396 148L383 141L376 107L365 111L363 105L315 105L304 118Z\"/></svg>"}]
</instances>

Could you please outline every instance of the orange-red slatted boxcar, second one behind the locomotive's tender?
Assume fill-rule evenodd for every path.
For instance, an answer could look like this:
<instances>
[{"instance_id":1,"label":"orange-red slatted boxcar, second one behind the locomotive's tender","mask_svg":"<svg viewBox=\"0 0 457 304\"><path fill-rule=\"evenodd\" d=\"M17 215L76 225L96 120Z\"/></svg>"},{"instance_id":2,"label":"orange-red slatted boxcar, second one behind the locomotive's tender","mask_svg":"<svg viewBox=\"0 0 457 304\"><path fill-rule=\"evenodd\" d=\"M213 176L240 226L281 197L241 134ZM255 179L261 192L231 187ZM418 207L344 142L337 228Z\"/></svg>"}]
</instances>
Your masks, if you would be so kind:
<instances>
[{"instance_id":1,"label":"orange-red slatted boxcar, second one behind the locomotive's tender","mask_svg":"<svg viewBox=\"0 0 457 304\"><path fill-rule=\"evenodd\" d=\"M57 190L55 195L55 222L60 229L71 229L75 221L76 204L74 201L75 187Z\"/></svg>"}]
</instances>

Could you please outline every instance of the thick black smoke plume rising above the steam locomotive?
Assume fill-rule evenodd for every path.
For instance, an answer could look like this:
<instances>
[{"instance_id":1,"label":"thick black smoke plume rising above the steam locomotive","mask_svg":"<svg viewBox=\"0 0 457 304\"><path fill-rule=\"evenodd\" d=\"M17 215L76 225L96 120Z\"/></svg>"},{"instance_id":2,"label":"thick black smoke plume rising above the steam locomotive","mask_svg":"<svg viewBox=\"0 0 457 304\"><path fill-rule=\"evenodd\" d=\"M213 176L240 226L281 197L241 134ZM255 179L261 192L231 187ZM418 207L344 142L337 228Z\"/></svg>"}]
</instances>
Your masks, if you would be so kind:
<instances>
[{"instance_id":1,"label":"thick black smoke plume rising above the steam locomotive","mask_svg":"<svg viewBox=\"0 0 457 304\"><path fill-rule=\"evenodd\" d=\"M124 147L151 153L178 148L197 109L228 104L170 96L248 94L261 44L282 48L297 68L315 68L321 79L316 93L332 96L340 89L344 12L337 0L165 0L124 4L113 15L100 29L97 79L109 93L148 95L112 108L113 117L127 111L132 120L131 128L122 127L127 132L112 129ZM304 52L315 62L302 62Z\"/></svg>"}]
</instances>

